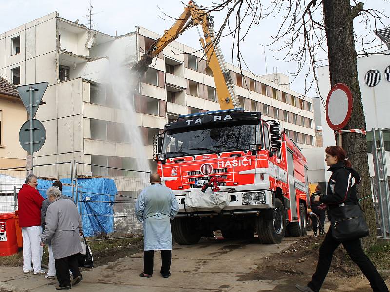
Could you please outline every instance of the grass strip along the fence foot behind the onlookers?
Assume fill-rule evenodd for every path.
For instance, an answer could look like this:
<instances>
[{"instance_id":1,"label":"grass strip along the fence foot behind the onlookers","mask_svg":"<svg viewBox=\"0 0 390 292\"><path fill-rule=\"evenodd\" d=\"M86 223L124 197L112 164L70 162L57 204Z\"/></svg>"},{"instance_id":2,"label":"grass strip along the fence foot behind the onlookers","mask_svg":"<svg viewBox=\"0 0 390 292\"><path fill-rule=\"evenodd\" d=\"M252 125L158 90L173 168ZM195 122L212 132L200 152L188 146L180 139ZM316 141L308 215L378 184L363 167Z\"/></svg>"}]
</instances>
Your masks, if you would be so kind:
<instances>
[{"instance_id":1,"label":"grass strip along the fence foot behind the onlookers","mask_svg":"<svg viewBox=\"0 0 390 292\"><path fill-rule=\"evenodd\" d=\"M107 251L116 252L131 248L133 244L140 243L142 237L108 239L100 241L88 242L91 247L94 262L98 262L101 257L104 257ZM42 264L47 265L49 262L49 252L47 246L43 249ZM17 267L23 266L23 251L20 250L17 254L12 256L0 256L0 266Z\"/></svg>"}]
</instances>

